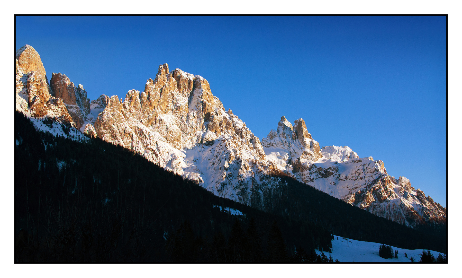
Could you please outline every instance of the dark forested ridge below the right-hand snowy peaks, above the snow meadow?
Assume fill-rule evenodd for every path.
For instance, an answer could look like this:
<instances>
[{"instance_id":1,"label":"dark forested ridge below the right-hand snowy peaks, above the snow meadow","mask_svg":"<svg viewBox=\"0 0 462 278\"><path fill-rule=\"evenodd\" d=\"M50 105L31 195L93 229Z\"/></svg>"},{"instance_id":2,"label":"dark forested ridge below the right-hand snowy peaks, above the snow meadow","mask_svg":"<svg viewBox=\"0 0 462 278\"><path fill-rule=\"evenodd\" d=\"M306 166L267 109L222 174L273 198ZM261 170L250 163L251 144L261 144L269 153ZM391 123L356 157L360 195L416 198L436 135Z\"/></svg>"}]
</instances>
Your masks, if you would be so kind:
<instances>
[{"instance_id":1,"label":"dark forested ridge below the right-hand snowy peaks, above the snow meadow","mask_svg":"<svg viewBox=\"0 0 462 278\"><path fill-rule=\"evenodd\" d=\"M285 218L321 225L334 235L358 241L384 243L405 249L447 253L446 224L419 225L416 229L376 216L334 198L296 179L280 174L277 194L266 197L266 211Z\"/></svg>"}]
</instances>

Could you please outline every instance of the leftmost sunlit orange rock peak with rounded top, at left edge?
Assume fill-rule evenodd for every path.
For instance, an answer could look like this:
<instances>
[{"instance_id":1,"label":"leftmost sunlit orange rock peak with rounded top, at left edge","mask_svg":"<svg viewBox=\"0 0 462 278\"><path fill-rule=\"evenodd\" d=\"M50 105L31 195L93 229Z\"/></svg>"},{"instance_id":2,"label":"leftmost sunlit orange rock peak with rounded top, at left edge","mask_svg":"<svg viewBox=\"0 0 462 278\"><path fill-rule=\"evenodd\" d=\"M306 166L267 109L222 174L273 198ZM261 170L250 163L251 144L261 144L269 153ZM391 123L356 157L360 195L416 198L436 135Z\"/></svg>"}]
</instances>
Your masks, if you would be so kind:
<instances>
[{"instance_id":1,"label":"leftmost sunlit orange rock peak with rounded top, at left edge","mask_svg":"<svg viewBox=\"0 0 462 278\"><path fill-rule=\"evenodd\" d=\"M40 55L30 45L16 51L16 110L32 117L51 117L75 126L62 99L52 96Z\"/></svg>"}]
</instances>

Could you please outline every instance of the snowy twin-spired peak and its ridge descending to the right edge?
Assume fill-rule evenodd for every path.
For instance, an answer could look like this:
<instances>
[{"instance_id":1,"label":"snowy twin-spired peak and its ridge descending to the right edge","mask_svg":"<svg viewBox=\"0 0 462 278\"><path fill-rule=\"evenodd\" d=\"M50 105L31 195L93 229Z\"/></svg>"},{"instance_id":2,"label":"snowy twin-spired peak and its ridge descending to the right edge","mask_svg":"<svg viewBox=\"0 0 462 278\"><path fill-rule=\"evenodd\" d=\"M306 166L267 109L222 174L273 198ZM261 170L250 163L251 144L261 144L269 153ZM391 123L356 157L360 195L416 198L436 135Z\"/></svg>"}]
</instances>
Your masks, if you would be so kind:
<instances>
[{"instance_id":1,"label":"snowy twin-spired peak and its ridge descending to the right edge","mask_svg":"<svg viewBox=\"0 0 462 278\"><path fill-rule=\"evenodd\" d=\"M277 130L271 130L262 140L267 161L279 171L292 175L345 202L358 206L378 216L415 226L426 222L445 222L446 209L434 203L430 196L411 186L409 179L396 180L388 175L381 160L372 157L359 158L347 146L324 146L320 155L313 155L314 148L306 148L298 139L302 119L292 124L282 117ZM306 128L306 126L305 126ZM292 132L291 132L292 131ZM309 134L306 131L305 134ZM316 146L311 135L303 136L305 142ZM316 146L319 150L319 145Z\"/></svg>"}]
</instances>

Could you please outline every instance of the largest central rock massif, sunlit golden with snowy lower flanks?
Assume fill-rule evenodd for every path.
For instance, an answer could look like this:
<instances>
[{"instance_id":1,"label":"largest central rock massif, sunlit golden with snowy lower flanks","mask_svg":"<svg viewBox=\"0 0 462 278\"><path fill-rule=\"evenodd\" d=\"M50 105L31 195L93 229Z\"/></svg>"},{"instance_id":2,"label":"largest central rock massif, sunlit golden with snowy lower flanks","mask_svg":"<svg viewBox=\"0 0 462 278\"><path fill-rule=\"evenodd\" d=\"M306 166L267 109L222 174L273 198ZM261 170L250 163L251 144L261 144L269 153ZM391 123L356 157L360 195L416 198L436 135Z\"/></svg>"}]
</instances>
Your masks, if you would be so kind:
<instances>
[{"instance_id":1,"label":"largest central rock massif, sunlit golden with snowy lower flanks","mask_svg":"<svg viewBox=\"0 0 462 278\"><path fill-rule=\"evenodd\" d=\"M160 65L145 92L117 96L98 115L97 136L193 179L218 196L250 204L255 180L268 172L260 140L225 111L206 79ZM253 182L252 182L253 181Z\"/></svg>"}]
</instances>

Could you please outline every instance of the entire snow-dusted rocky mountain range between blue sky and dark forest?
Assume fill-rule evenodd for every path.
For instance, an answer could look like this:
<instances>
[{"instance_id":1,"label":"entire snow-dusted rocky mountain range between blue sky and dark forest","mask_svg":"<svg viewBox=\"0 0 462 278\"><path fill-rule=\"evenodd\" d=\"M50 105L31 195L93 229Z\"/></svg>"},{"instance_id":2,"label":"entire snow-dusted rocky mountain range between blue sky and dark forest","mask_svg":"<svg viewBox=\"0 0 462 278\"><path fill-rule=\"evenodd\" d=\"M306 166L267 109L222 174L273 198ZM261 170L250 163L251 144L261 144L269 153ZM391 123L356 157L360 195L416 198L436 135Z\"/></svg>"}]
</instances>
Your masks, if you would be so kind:
<instances>
[{"instance_id":1,"label":"entire snow-dusted rocky mountain range between blue sky and dark forest","mask_svg":"<svg viewBox=\"0 0 462 278\"><path fill-rule=\"evenodd\" d=\"M378 216L415 227L444 223L446 209L408 179L387 174L383 162L359 158L348 147L319 148L303 119L283 116L261 142L213 96L206 79L168 65L147 80L145 92L130 90L124 101L101 95L89 100L82 85L64 74L50 84L40 56L30 45L16 51L16 110L143 155L213 194L265 210L265 198L286 173ZM74 136L81 140L79 136Z\"/></svg>"}]
</instances>

